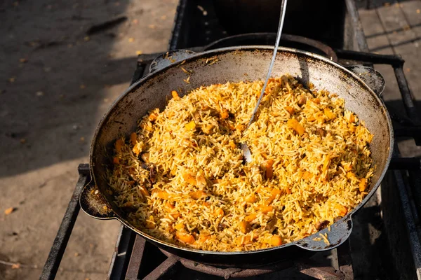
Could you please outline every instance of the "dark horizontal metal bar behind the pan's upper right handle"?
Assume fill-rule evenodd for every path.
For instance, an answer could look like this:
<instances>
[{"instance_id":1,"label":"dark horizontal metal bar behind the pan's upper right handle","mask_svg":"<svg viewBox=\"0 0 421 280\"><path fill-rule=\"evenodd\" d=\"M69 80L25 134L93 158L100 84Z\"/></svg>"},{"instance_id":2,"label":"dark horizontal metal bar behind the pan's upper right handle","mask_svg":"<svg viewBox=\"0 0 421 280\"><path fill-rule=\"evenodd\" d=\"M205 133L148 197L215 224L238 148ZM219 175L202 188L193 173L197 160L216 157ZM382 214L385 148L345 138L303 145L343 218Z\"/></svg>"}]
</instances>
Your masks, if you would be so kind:
<instances>
[{"instance_id":1,"label":"dark horizontal metal bar behind the pan's upper right handle","mask_svg":"<svg viewBox=\"0 0 421 280\"><path fill-rule=\"evenodd\" d=\"M354 50L335 49L340 59L356 60L360 62L371 62L373 64L392 64L400 66L405 62L399 55L378 55L371 52L356 52Z\"/></svg>"}]
</instances>

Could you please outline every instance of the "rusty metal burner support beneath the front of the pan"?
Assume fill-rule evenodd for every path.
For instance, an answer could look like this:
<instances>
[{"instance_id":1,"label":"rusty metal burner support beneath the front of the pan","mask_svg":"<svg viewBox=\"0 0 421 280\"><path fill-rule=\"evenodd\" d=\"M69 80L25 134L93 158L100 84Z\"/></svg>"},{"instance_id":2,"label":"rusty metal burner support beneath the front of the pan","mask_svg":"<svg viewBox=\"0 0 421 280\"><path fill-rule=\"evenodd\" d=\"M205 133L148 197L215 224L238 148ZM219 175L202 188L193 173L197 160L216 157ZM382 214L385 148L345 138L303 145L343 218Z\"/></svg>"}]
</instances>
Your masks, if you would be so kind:
<instances>
[{"instance_id":1,"label":"rusty metal burner support beneath the front of the pan","mask_svg":"<svg viewBox=\"0 0 421 280\"><path fill-rule=\"evenodd\" d=\"M335 253L336 251L338 253ZM159 252L163 255L161 256ZM212 276L225 279L245 277L279 279L279 277L294 275L294 279L296 277L307 279L307 276L312 276L315 279L354 279L348 243L334 249L328 255L330 255L330 262L326 262L329 258L325 257L326 260L323 262L322 255L315 255L312 258L290 258L254 268L222 267L220 265L205 265L194 260L180 258L162 249L158 250L147 244L146 240L138 235L133 245L133 251L129 253L130 263L120 278L142 279L143 276L148 275L149 279L186 279L183 277L195 275L194 277L199 277L197 279L213 279ZM151 259L154 261L151 262ZM154 267L156 268L154 269Z\"/></svg>"}]
</instances>

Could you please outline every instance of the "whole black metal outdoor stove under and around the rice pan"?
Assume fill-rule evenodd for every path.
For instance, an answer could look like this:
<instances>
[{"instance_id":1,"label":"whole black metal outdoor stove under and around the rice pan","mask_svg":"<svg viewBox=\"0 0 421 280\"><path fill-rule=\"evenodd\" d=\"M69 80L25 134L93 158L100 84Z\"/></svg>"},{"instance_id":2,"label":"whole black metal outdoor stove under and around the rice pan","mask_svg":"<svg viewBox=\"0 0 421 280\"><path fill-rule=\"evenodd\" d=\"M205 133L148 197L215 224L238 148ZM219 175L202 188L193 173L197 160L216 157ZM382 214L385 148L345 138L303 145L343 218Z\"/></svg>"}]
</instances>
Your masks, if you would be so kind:
<instances>
[{"instance_id":1,"label":"whole black metal outdoor stove under and around the rice pan","mask_svg":"<svg viewBox=\"0 0 421 280\"><path fill-rule=\"evenodd\" d=\"M344 66L352 64L387 64L392 66L406 112L389 108L394 123L395 143L413 138L421 146L420 114L403 73L403 59L395 55L368 52L353 0L345 1L347 20L344 48L335 49L313 39L283 36L281 45L301 48L325 55ZM188 24L190 22L190 25ZM195 22L192 28L192 22ZM230 36L219 25L210 1L181 0L178 6L169 49L195 52L229 45L272 45L275 34ZM229 38L227 38L229 37ZM132 83L147 75L152 60L161 54L140 55ZM89 166L79 165L79 181L54 240L41 279L54 279L79 214L79 196L90 183ZM381 203L380 203L381 202ZM421 162L419 158L401 158L396 144L389 172L382 182L381 195L374 196L355 216L349 240L312 258L274 262L247 269L214 267L180 259L149 244L140 235L121 226L109 267L108 279L220 279L247 277L254 279L421 279ZM375 230L370 230L369 225ZM381 258L380 258L381 257ZM368 274L367 274L368 273ZM362 275L363 274L363 275Z\"/></svg>"}]
</instances>

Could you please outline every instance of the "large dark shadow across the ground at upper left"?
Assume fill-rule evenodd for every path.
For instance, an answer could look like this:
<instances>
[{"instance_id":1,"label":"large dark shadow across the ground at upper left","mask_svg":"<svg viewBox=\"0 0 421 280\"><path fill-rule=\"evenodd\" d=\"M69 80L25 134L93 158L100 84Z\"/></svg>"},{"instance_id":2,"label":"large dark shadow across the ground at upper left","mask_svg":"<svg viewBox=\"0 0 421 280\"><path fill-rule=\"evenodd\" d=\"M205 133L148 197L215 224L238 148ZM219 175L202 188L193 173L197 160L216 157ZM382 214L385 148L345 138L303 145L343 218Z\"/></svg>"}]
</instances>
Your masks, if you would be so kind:
<instances>
[{"instance_id":1,"label":"large dark shadow across the ground at upper left","mask_svg":"<svg viewBox=\"0 0 421 280\"><path fill-rule=\"evenodd\" d=\"M88 155L98 120L135 69L135 50L126 57L119 49L136 28L131 15L144 13L130 8L129 1L1 5L0 177Z\"/></svg>"}]
</instances>

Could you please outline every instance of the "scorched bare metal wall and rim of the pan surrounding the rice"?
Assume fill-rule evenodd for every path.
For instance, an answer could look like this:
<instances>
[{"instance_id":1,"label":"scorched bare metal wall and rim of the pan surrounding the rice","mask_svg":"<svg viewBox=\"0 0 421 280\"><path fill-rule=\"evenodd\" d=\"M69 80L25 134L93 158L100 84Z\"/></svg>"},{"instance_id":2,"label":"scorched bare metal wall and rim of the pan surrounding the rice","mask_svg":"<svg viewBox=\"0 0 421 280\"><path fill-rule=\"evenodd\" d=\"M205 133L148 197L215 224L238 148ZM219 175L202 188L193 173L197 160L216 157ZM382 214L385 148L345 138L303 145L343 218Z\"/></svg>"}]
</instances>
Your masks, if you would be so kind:
<instances>
[{"instance_id":1,"label":"scorched bare metal wall and rim of the pan surrounding the rice","mask_svg":"<svg viewBox=\"0 0 421 280\"><path fill-rule=\"evenodd\" d=\"M347 239L352 229L350 217L373 195L389 164L392 155L390 147L393 144L392 125L382 101L354 73L329 59L299 50L280 48L273 75L281 76L290 73L302 83L313 83L316 88L335 92L345 99L346 109L354 111L360 120L366 120L368 129L374 134L370 148L373 153L374 165L377 168L370 186L370 193L356 209L332 227L332 231L328 233L332 245L328 246L323 241L314 241L313 239L316 237L314 235L277 248L247 252L209 252L175 246L145 235L128 223L126 214L113 204L112 197L107 193L105 174L115 139L121 135L127 136L135 130L137 120L145 116L147 111L154 108L163 109L166 104L166 95L171 90L181 89L180 94L184 95L189 90L202 85L226 83L227 81L238 82L245 78L248 80L264 78L265 71L263 69L266 69L271 49L273 48L266 46L240 46L193 55L186 59L185 64L182 65L188 71L193 70L193 73L182 71L180 63L172 64L135 83L114 102L105 118L102 119L93 138L91 172L100 194L105 197L107 206L112 208L116 218L128 228L138 232L161 248L166 248L171 253L181 254L185 258L200 259L202 262L218 260L223 257L226 258L227 263L233 266L238 265L239 262L247 262L247 256L251 255L256 261L263 262L267 261L268 255L275 254L279 249L283 249L283 252L287 253L287 248L291 252L293 250L290 247L297 245L305 250L326 250L339 246ZM211 58L218 58L218 61L209 65L206 61ZM189 84L184 81L187 76L190 76ZM385 153L385 151L387 152ZM237 258L230 258L230 255L236 255ZM241 258L239 258L240 255Z\"/></svg>"}]
</instances>

